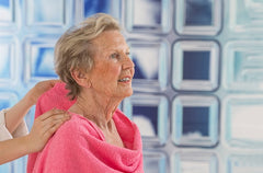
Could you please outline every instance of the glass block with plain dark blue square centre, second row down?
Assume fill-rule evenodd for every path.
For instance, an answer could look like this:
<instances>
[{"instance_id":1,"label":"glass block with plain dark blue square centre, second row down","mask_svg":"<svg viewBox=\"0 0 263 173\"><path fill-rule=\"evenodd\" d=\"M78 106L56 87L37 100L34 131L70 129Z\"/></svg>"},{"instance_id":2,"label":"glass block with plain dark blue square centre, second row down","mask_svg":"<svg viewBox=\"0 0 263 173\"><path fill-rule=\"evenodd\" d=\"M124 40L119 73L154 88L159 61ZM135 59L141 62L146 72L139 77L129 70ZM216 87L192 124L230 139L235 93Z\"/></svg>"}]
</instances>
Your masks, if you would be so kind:
<instances>
[{"instance_id":1,"label":"glass block with plain dark blue square centre, second row down","mask_svg":"<svg viewBox=\"0 0 263 173\"><path fill-rule=\"evenodd\" d=\"M173 46L175 90L214 91L219 81L219 46L215 42L181 41Z\"/></svg>"}]
</instances>

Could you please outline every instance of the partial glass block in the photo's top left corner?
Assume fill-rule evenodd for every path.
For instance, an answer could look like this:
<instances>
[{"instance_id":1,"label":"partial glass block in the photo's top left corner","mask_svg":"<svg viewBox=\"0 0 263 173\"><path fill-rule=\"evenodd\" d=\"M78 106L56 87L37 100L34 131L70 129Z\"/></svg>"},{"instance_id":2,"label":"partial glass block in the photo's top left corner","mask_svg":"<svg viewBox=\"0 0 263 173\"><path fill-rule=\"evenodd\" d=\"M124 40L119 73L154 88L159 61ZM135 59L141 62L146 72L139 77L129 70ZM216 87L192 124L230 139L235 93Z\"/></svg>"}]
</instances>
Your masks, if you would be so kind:
<instances>
[{"instance_id":1,"label":"partial glass block in the photo's top left corner","mask_svg":"<svg viewBox=\"0 0 263 173\"><path fill-rule=\"evenodd\" d=\"M0 25L9 25L14 22L13 0L0 1Z\"/></svg>"}]
</instances>

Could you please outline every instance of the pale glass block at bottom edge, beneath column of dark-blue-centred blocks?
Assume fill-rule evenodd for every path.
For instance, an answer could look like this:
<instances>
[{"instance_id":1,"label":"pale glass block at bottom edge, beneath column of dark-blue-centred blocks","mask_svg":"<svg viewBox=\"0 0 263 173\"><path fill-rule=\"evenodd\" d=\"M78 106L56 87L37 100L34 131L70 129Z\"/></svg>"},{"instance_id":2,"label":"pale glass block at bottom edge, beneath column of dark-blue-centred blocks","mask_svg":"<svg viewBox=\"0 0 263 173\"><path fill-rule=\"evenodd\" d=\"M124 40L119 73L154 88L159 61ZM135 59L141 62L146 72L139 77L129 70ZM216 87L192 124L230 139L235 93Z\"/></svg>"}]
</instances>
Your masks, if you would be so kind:
<instances>
[{"instance_id":1,"label":"pale glass block at bottom edge, beneath column of dark-blue-centred blocks","mask_svg":"<svg viewBox=\"0 0 263 173\"><path fill-rule=\"evenodd\" d=\"M176 152L172 155L172 173L218 173L218 159L208 152Z\"/></svg>"}]
</instances>

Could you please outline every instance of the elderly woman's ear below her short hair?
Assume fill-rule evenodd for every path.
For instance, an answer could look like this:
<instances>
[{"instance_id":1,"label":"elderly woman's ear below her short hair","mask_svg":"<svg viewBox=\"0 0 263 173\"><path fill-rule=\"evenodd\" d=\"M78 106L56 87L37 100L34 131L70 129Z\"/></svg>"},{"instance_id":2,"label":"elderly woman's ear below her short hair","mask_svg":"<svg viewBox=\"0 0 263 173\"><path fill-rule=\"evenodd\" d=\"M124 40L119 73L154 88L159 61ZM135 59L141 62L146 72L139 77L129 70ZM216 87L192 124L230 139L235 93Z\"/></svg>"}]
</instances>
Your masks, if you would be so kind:
<instances>
[{"instance_id":1,"label":"elderly woman's ear below her short hair","mask_svg":"<svg viewBox=\"0 0 263 173\"><path fill-rule=\"evenodd\" d=\"M91 86L91 82L89 79L89 76L87 72L82 71L82 70L71 70L70 71L71 77L75 79L75 81L84 88L90 88Z\"/></svg>"}]
</instances>

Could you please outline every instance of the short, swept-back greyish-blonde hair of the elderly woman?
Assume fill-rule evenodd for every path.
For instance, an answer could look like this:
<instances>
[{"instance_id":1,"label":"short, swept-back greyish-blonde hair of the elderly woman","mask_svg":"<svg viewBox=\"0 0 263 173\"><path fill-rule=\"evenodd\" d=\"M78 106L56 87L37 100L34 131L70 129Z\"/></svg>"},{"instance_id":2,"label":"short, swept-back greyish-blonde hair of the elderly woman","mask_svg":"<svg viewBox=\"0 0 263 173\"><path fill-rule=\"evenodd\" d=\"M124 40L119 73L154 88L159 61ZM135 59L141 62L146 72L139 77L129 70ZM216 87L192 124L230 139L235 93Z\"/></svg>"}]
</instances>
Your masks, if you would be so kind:
<instances>
[{"instance_id":1,"label":"short, swept-back greyish-blonde hair of the elderly woman","mask_svg":"<svg viewBox=\"0 0 263 173\"><path fill-rule=\"evenodd\" d=\"M94 45L92 39L105 31L121 31L118 22L108 14L98 13L77 26L70 27L55 46L55 70L69 90L68 96L75 100L80 86L71 77L72 70L89 72L93 67Z\"/></svg>"}]
</instances>

